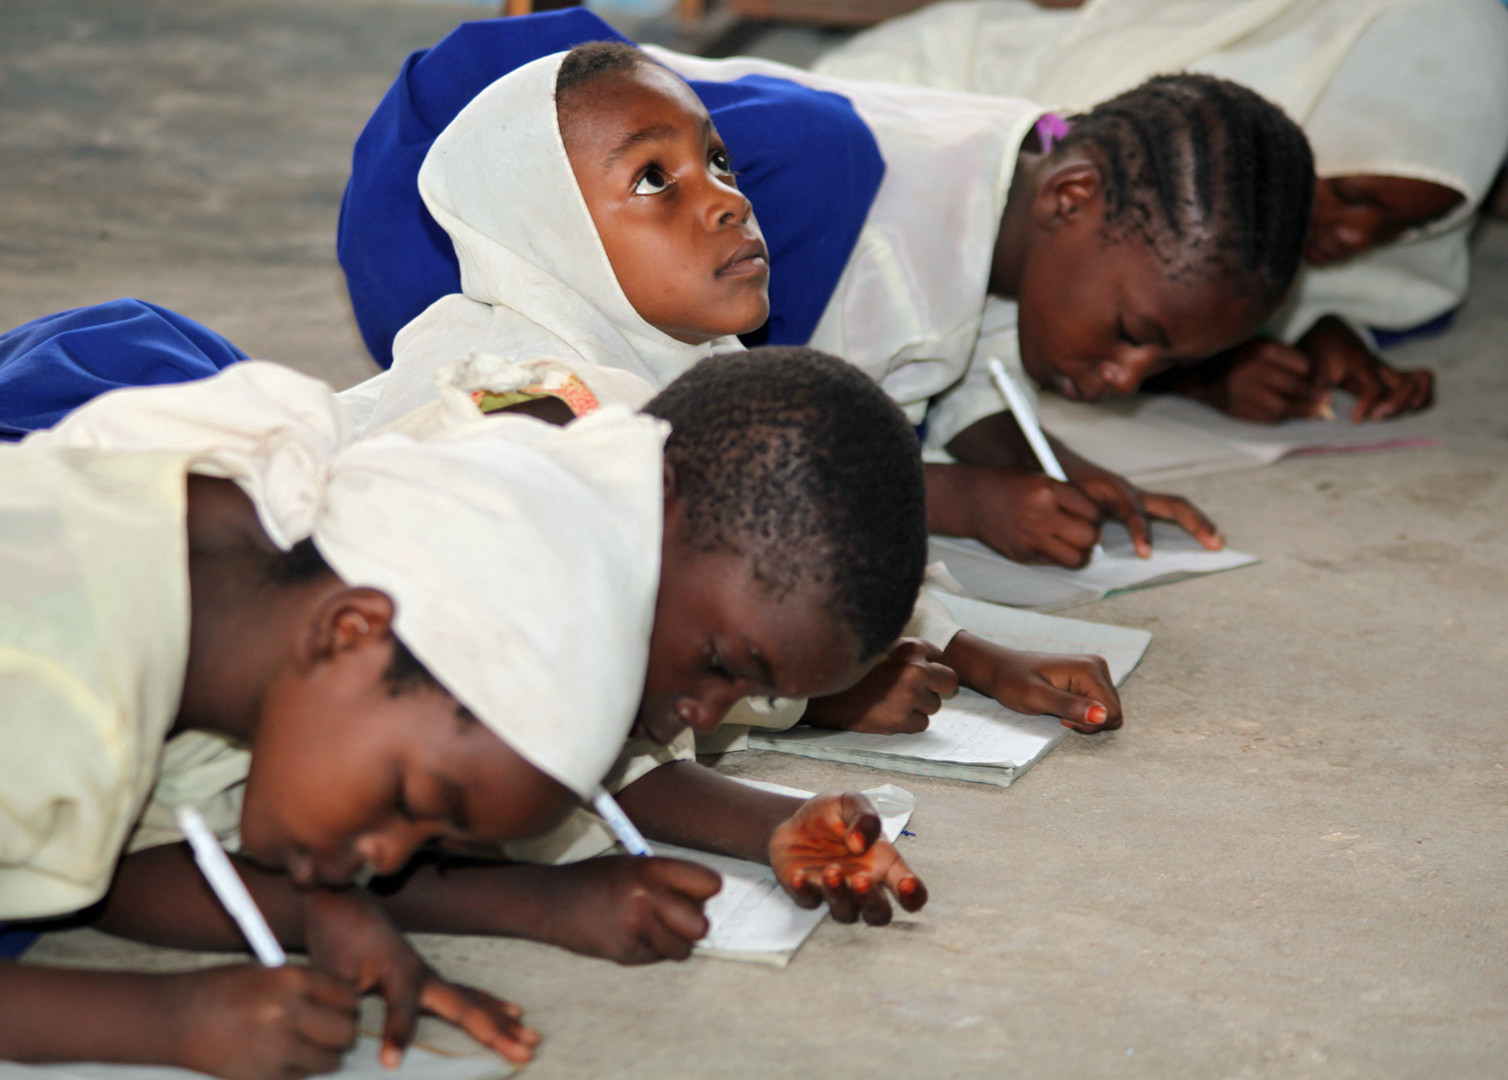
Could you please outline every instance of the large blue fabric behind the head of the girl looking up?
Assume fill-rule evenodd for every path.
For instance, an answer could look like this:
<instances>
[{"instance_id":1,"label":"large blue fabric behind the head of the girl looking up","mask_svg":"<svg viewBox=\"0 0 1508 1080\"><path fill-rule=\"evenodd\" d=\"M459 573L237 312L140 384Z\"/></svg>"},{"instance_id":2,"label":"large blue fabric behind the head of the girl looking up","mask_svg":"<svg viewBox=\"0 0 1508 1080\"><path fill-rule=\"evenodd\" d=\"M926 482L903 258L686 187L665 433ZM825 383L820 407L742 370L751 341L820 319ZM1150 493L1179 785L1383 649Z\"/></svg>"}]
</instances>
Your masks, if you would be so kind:
<instances>
[{"instance_id":1,"label":"large blue fabric behind the head of the girl looking up","mask_svg":"<svg viewBox=\"0 0 1508 1080\"><path fill-rule=\"evenodd\" d=\"M493 81L588 41L627 41L582 8L463 23L403 65L356 140L336 253L366 348L392 364L400 329L460 291L445 231L419 198L424 155ZM783 78L694 81L754 205L771 262L769 323L748 344L805 344L885 175L869 127L837 94Z\"/></svg>"}]
</instances>

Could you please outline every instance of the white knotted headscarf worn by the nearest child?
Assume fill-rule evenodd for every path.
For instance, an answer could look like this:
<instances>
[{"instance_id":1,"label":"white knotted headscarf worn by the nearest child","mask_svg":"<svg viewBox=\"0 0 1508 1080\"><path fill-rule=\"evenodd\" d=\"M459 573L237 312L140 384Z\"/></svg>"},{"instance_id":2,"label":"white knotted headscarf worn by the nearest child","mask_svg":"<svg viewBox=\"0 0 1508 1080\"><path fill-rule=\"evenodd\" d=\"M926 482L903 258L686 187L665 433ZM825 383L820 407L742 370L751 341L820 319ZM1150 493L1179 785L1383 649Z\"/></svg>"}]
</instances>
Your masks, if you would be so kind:
<instances>
[{"instance_id":1,"label":"white knotted headscarf worn by the nearest child","mask_svg":"<svg viewBox=\"0 0 1508 1080\"><path fill-rule=\"evenodd\" d=\"M314 537L455 698L578 795L638 709L659 587L667 425L621 406L564 428L475 410L351 440L329 386L256 361L118 391L30 442L195 454L280 548Z\"/></svg>"}]
</instances>

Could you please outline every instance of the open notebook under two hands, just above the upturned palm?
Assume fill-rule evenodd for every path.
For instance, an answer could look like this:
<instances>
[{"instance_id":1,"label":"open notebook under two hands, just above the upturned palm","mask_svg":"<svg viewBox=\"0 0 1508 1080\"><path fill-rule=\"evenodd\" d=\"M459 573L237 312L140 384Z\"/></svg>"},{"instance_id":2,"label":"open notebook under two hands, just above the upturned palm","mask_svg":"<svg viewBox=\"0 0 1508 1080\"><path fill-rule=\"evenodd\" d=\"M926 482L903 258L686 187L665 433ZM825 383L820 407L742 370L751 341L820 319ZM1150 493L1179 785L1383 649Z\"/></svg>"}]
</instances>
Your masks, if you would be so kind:
<instances>
[{"instance_id":1,"label":"open notebook under two hands, just above the upturned palm","mask_svg":"<svg viewBox=\"0 0 1508 1080\"><path fill-rule=\"evenodd\" d=\"M1104 656L1116 685L1131 674L1152 640L1146 631L1018 611L947 593L936 596L964 629L1010 649ZM944 703L926 732L915 735L793 727L789 732L749 732L748 745L751 750L1007 787L1066 733L1068 729L1054 716L1024 716L965 689Z\"/></svg>"}]
</instances>

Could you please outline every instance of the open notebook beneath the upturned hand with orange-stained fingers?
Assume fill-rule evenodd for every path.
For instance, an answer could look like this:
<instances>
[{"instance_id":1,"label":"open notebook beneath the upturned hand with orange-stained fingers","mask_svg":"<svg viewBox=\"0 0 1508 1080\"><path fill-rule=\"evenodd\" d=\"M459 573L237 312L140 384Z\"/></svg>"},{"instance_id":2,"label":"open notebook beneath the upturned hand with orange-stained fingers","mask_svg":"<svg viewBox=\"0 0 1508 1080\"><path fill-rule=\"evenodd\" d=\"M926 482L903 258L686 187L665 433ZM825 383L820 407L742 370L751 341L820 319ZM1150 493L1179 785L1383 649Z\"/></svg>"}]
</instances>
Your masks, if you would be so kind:
<instances>
[{"instance_id":1,"label":"open notebook beneath the upturned hand with orange-stained fingers","mask_svg":"<svg viewBox=\"0 0 1508 1080\"><path fill-rule=\"evenodd\" d=\"M757 780L740 783L798 798L811 795L784 784ZM879 810L885 837L894 842L911 821L911 812L917 805L915 795L894 784L872 787L864 793ZM826 907L796 907L768 866L665 843L654 845L654 854L701 863L722 875L722 890L704 908L712 929L697 943L698 956L786 967L801 943L828 916Z\"/></svg>"}]
</instances>

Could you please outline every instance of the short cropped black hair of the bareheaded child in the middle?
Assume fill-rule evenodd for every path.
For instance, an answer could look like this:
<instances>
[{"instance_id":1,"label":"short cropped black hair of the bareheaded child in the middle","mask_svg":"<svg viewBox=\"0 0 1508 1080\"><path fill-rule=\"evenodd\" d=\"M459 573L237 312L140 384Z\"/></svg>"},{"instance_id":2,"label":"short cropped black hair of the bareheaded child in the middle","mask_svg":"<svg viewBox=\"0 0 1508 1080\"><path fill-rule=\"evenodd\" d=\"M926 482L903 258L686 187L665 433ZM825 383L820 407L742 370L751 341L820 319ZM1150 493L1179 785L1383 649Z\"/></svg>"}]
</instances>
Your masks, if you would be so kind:
<instances>
[{"instance_id":1,"label":"short cropped black hair of the bareheaded child in the middle","mask_svg":"<svg viewBox=\"0 0 1508 1080\"><path fill-rule=\"evenodd\" d=\"M900 635L926 567L926 489L915 431L857 368L769 347L697 364L644 412L670 421L697 551L751 558L777 597L804 582L879 655Z\"/></svg>"}]
</instances>

